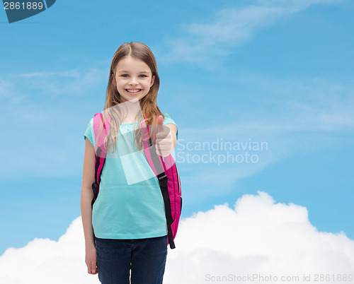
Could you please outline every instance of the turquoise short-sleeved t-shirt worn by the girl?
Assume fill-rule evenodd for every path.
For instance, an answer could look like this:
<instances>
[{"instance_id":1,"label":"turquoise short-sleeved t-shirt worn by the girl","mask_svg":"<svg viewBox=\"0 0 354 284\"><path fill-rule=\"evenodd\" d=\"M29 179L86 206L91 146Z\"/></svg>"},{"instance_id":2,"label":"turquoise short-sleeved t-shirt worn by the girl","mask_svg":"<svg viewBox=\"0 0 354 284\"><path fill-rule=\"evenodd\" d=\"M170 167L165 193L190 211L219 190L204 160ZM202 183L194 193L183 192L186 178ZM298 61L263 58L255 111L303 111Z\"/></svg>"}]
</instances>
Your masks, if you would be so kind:
<instances>
[{"instance_id":1,"label":"turquoise short-sleeved t-shirt worn by the girl","mask_svg":"<svg viewBox=\"0 0 354 284\"><path fill-rule=\"evenodd\" d=\"M164 125L176 125L169 114L164 116ZM120 124L117 150L108 153L105 159L100 191L92 209L93 232L99 238L142 239L167 235L159 181L144 151L139 153L133 147L134 125L137 124ZM84 134L86 137L94 146L93 118Z\"/></svg>"}]
</instances>

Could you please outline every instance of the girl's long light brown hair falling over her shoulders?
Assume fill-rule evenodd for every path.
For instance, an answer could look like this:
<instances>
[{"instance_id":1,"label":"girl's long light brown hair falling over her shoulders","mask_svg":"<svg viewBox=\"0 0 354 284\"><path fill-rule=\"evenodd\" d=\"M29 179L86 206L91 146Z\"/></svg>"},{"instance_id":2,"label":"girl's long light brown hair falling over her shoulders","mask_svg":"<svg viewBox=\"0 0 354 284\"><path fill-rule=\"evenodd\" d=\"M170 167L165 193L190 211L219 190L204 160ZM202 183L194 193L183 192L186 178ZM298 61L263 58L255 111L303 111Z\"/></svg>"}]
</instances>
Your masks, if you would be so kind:
<instances>
[{"instance_id":1,"label":"girl's long light brown hair falling over her shoulders","mask_svg":"<svg viewBox=\"0 0 354 284\"><path fill-rule=\"evenodd\" d=\"M144 45L142 42L130 42L123 43L118 47L113 55L112 62L110 64L110 73L108 78L108 86L105 98L105 107L103 109L103 117L108 119L108 114L110 115L110 131L105 137L105 145L107 152L111 149L115 152L116 142L118 138L118 132L120 128L120 123L124 118L124 110L122 109L122 97L117 90L117 85L115 82L115 68L118 62L125 57L133 57L135 59L144 61L149 69L152 71L152 76L155 76L154 85L149 90L149 93L139 100L139 104L142 112L138 112L135 117L135 121L139 122L138 128L135 130L134 145L140 151L143 150L142 144L142 123L149 125L149 137L154 138L156 136L156 127L151 127L156 125L156 119L159 115L164 117L161 113L159 107L156 103L157 93L160 87L159 73L157 73L157 64L154 54L151 49ZM100 131L98 132L98 137L101 134L103 124L101 124Z\"/></svg>"}]
</instances>

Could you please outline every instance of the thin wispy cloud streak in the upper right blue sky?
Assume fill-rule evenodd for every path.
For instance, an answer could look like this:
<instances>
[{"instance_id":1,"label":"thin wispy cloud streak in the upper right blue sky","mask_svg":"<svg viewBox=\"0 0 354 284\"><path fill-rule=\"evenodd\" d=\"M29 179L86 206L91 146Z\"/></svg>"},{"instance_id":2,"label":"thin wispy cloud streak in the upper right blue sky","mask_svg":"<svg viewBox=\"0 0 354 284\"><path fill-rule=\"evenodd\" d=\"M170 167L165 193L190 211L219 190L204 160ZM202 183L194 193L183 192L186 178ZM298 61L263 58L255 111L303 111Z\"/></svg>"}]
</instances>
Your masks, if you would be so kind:
<instances>
[{"instance_id":1,"label":"thin wispy cloud streak in the upper right blue sky","mask_svg":"<svg viewBox=\"0 0 354 284\"><path fill-rule=\"evenodd\" d=\"M308 8L314 4L338 4L343 0L258 0L255 4L222 8L210 23L182 25L183 36L166 38L170 51L161 50L159 60L185 61L215 70L221 58L232 48L248 40L257 30L271 25L281 16ZM156 49L159 47L156 46Z\"/></svg>"}]
</instances>

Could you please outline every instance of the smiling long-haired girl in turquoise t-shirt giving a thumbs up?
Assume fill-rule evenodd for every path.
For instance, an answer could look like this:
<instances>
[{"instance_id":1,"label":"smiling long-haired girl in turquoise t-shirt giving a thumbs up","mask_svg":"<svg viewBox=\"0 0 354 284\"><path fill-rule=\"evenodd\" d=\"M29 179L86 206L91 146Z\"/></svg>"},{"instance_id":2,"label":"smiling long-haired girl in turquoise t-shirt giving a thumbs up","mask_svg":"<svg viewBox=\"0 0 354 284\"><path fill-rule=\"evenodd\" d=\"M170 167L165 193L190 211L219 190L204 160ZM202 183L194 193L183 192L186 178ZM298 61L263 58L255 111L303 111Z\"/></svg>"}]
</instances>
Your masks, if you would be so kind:
<instances>
[{"instance_id":1,"label":"smiling long-haired girl in turquoise t-shirt giving a thumbs up","mask_svg":"<svg viewBox=\"0 0 354 284\"><path fill-rule=\"evenodd\" d=\"M163 280L167 255L164 200L144 157L141 131L142 122L149 125L158 155L166 157L176 146L177 126L156 105L159 83L156 60L147 45L130 42L117 49L103 110L103 117L110 116L107 155L92 209L93 119L84 134L88 138L81 187L85 262L88 273L98 273L103 284Z\"/></svg>"}]
</instances>

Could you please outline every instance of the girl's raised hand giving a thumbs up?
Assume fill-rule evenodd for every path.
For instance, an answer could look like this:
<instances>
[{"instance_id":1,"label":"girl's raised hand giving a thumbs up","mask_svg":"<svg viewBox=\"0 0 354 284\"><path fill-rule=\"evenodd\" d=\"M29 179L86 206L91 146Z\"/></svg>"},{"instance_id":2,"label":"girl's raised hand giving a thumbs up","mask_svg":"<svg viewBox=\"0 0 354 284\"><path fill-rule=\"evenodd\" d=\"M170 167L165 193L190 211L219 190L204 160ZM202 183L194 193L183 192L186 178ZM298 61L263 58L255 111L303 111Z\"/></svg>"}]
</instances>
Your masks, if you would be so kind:
<instances>
[{"instance_id":1,"label":"girl's raised hand giving a thumbs up","mask_svg":"<svg viewBox=\"0 0 354 284\"><path fill-rule=\"evenodd\" d=\"M162 115L159 115L159 117L157 118L156 153L157 155L166 157L170 155L170 153L176 146L177 129L174 124L166 124L166 126L163 126L163 122L164 117L162 117Z\"/></svg>"}]
</instances>

